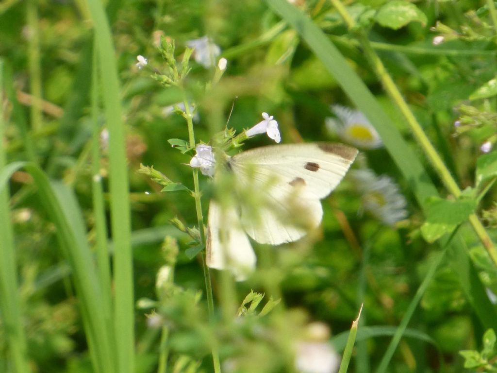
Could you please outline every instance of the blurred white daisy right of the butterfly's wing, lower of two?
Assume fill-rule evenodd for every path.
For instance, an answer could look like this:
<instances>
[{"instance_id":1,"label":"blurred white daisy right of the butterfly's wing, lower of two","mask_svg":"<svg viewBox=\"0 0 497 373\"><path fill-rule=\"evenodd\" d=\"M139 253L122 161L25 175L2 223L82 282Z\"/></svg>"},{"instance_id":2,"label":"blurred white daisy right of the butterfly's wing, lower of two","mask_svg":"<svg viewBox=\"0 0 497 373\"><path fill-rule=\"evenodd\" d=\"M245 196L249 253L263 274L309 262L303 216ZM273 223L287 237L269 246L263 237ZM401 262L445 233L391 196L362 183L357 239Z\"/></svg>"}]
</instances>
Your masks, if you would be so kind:
<instances>
[{"instance_id":1,"label":"blurred white daisy right of the butterfly's wing, lower of two","mask_svg":"<svg viewBox=\"0 0 497 373\"><path fill-rule=\"evenodd\" d=\"M377 177L370 170L352 170L350 176L362 194L364 209L386 225L393 226L408 216L406 198L388 176Z\"/></svg>"}]
</instances>

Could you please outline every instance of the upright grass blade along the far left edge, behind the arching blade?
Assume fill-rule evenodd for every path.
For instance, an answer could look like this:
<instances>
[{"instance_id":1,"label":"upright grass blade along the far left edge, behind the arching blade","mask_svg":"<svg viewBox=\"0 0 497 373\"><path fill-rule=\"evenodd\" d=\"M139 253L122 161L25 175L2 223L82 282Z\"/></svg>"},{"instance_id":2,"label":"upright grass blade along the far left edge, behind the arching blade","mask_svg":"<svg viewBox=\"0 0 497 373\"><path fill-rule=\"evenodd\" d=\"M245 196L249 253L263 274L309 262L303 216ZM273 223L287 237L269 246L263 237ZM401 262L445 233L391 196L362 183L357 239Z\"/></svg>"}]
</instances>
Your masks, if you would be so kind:
<instances>
[{"instance_id":1,"label":"upright grass blade along the far left edge, behind the arching blade","mask_svg":"<svg viewBox=\"0 0 497 373\"><path fill-rule=\"evenodd\" d=\"M0 59L0 103L3 102L3 61ZM5 122L0 104L0 141L3 140ZM5 148L0 146L0 171L6 165ZM15 245L10 221L8 187L0 191L0 310L14 372L29 372L26 335L22 323L22 310L17 283Z\"/></svg>"}]
</instances>

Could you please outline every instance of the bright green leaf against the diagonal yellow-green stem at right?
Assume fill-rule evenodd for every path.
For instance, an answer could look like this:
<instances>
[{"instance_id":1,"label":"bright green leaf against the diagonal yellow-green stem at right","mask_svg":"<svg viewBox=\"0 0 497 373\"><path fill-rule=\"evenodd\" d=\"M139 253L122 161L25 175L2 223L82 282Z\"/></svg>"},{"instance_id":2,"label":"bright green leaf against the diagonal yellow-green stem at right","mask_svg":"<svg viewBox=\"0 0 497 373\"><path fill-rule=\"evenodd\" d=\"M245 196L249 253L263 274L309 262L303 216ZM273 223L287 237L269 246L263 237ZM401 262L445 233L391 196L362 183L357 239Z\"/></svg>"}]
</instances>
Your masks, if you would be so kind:
<instances>
[{"instance_id":1,"label":"bright green leaf against the diagonal yellow-green stem at right","mask_svg":"<svg viewBox=\"0 0 497 373\"><path fill-rule=\"evenodd\" d=\"M476 206L476 201L471 198L449 200L430 197L427 201L426 222L421 226L423 238L431 243L452 232L471 215Z\"/></svg>"}]
</instances>

